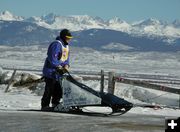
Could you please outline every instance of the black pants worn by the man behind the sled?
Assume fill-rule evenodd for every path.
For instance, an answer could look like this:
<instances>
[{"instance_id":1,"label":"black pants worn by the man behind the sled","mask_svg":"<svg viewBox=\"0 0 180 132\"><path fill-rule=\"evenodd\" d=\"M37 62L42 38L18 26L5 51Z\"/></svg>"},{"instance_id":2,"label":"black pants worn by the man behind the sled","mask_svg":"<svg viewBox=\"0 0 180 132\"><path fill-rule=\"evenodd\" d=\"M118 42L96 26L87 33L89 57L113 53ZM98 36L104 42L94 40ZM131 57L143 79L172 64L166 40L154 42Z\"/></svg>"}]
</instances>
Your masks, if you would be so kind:
<instances>
[{"instance_id":1,"label":"black pants worn by the man behind the sled","mask_svg":"<svg viewBox=\"0 0 180 132\"><path fill-rule=\"evenodd\" d=\"M59 104L62 98L62 86L61 82L51 78L45 78L45 91L41 99L41 107L49 106L50 100L52 104Z\"/></svg>"}]
</instances>

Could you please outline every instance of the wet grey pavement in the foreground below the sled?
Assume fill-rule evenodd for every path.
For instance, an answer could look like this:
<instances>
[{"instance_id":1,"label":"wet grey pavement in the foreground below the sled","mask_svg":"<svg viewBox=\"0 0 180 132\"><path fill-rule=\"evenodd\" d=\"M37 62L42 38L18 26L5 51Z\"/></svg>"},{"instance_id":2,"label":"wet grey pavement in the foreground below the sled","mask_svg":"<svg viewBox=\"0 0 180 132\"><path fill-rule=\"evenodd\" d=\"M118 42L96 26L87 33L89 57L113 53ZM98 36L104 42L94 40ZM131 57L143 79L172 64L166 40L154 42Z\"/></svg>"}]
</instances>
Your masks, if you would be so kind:
<instances>
[{"instance_id":1,"label":"wet grey pavement in the foreground below the sled","mask_svg":"<svg viewBox=\"0 0 180 132\"><path fill-rule=\"evenodd\" d=\"M165 130L165 117L126 113L86 116L53 112L0 111L0 132L148 132Z\"/></svg>"}]
</instances>

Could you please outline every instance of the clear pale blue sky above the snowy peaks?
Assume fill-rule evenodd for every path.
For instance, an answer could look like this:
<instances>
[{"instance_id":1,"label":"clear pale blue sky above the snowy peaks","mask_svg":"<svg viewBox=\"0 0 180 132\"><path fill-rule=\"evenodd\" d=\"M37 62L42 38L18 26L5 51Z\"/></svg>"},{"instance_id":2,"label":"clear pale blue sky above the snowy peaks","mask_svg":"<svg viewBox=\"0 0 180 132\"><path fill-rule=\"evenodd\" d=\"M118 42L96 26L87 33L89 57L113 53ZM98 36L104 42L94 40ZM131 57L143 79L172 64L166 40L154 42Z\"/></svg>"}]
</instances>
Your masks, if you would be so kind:
<instances>
[{"instance_id":1,"label":"clear pale blue sky above the snowy peaks","mask_svg":"<svg viewBox=\"0 0 180 132\"><path fill-rule=\"evenodd\" d=\"M90 15L104 20L119 17L127 22L156 18L180 19L180 0L0 0L0 12L29 17L48 13Z\"/></svg>"}]
</instances>

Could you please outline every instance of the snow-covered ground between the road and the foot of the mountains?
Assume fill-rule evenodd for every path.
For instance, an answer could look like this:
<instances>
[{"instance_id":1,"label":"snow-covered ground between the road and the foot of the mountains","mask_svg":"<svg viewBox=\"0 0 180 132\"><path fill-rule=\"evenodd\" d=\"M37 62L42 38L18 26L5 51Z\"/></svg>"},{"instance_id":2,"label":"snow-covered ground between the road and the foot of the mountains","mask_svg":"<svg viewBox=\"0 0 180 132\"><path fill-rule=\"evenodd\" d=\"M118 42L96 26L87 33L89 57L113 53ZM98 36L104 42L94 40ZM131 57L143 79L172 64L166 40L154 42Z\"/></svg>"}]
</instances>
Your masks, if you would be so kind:
<instances>
[{"instance_id":1,"label":"snow-covered ground between the road and the foot of the mountains","mask_svg":"<svg viewBox=\"0 0 180 132\"><path fill-rule=\"evenodd\" d=\"M0 67L41 70L46 58L47 46L7 47L0 46ZM100 52L87 48L71 47L71 70L78 71L115 71L118 73L148 74L171 76L180 79L180 53L158 52ZM21 72L21 71L19 71ZM10 78L12 71L0 70L2 80ZM95 90L99 90L99 81L84 81ZM174 87L174 85L169 84ZM0 109L40 109L44 83L36 90L27 87L11 87L4 93L7 85L0 85ZM178 88L179 85L176 85ZM105 82L105 91L107 82ZM179 106L179 95L147 90L141 87L116 83L115 95L133 103L150 103L167 106ZM136 107L129 111L136 114L180 116L180 110L169 108L150 109Z\"/></svg>"}]
</instances>

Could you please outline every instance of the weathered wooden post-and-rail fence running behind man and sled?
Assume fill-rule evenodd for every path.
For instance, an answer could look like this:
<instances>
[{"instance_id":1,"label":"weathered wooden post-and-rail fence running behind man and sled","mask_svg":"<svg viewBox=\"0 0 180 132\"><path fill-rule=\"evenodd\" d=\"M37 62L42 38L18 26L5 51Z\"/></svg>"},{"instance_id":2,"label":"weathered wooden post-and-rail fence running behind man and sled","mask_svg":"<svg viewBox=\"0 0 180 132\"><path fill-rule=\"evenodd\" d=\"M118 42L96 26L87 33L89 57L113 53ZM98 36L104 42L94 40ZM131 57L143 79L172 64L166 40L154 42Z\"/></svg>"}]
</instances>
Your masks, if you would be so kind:
<instances>
[{"instance_id":1,"label":"weathered wooden post-and-rail fence running behind man and sled","mask_svg":"<svg viewBox=\"0 0 180 132\"><path fill-rule=\"evenodd\" d=\"M13 77L16 73L17 70L19 71L32 71L32 72L40 72L40 70L27 70L27 69L11 69L11 68L3 68L5 70L14 70L12 77L8 83L8 86L5 90L5 92L8 91L11 82L13 80ZM162 76L156 75L154 77L158 78L161 81L153 81L153 80L133 80L133 79L128 79L129 78L138 78L141 77L141 75L135 75L135 74L117 74L115 72L104 72L101 70L101 72L88 72L88 71L72 71L72 74L79 74L83 78L83 80L100 80L100 92L104 91L104 81L105 79L108 80L108 93L114 94L115 90L115 83L124 83L124 84L129 84L129 85L135 85L135 86L140 86L143 88L148 88L148 89L154 89L154 90L159 90L163 92L169 92L173 94L178 94L179 95L179 107L180 107L180 89L176 89L173 87L168 87L168 86L163 86L163 85L158 85L154 83L170 83L170 84L180 84L180 80L175 79L175 80L167 80L164 79ZM86 76L85 76L86 75ZM90 76L91 75L91 76ZM123 77L122 77L122 76ZM128 76L129 75L129 76ZM147 75L145 75L146 78L148 78ZM127 78L126 78L127 77ZM152 76L149 76L149 78L152 78Z\"/></svg>"}]
</instances>

